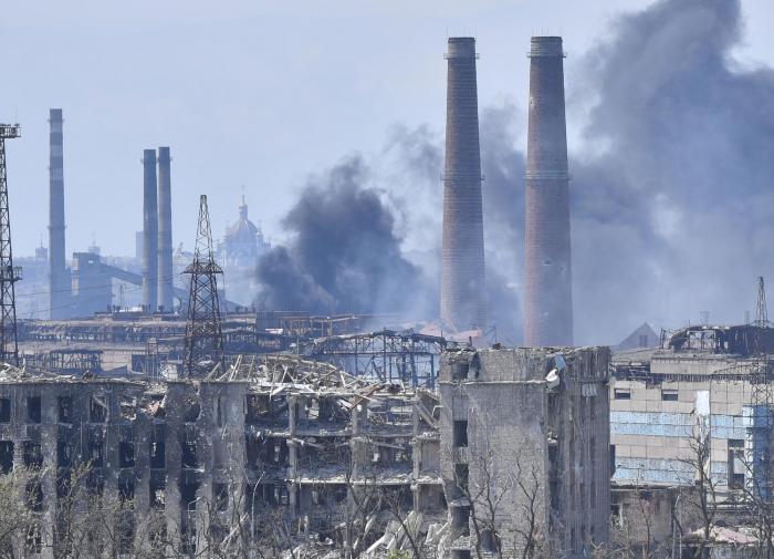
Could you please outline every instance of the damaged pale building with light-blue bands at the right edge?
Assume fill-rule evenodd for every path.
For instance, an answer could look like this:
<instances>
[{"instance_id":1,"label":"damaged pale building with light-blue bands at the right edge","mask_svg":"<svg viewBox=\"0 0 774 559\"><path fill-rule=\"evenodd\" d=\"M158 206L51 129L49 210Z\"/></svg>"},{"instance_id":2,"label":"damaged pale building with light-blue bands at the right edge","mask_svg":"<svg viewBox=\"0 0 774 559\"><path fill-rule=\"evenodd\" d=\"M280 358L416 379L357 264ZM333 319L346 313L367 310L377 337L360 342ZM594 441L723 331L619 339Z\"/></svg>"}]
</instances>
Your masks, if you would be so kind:
<instances>
[{"instance_id":1,"label":"damaged pale building with light-blue bands at the right edge","mask_svg":"<svg viewBox=\"0 0 774 559\"><path fill-rule=\"evenodd\" d=\"M614 355L613 510L621 522L638 517L637 495L646 495L653 538L674 534L672 510L695 486L698 464L729 521L751 488L771 499L773 354L774 329L743 324L688 327L658 348Z\"/></svg>"}]
</instances>

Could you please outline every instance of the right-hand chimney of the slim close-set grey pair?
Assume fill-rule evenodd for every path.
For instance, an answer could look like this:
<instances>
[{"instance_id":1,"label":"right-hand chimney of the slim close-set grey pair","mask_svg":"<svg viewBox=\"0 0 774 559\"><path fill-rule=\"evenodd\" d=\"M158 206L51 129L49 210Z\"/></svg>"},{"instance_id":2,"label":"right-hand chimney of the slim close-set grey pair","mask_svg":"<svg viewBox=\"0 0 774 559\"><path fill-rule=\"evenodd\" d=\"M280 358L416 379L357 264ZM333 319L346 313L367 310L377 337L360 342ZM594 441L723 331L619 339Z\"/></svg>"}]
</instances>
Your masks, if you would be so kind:
<instances>
[{"instance_id":1,"label":"right-hand chimney of the slim close-set grey pair","mask_svg":"<svg viewBox=\"0 0 774 559\"><path fill-rule=\"evenodd\" d=\"M169 147L158 148L158 304L172 310L172 194Z\"/></svg>"}]
</instances>

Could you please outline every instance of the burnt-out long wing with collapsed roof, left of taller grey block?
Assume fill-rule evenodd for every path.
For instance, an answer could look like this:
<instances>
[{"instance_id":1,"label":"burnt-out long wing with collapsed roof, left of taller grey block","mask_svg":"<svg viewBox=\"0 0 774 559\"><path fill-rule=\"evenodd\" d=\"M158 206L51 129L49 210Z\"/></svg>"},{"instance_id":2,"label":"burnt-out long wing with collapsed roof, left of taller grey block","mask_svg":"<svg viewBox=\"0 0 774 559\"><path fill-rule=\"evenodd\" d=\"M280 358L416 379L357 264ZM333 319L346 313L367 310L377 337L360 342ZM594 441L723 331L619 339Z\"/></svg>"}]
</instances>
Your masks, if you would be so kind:
<instances>
[{"instance_id":1,"label":"burnt-out long wing with collapsed roof, left of taller grey block","mask_svg":"<svg viewBox=\"0 0 774 559\"><path fill-rule=\"evenodd\" d=\"M437 414L432 392L291 355L237 358L199 380L6 366L0 468L33 474L36 518L34 536L14 546L56 557L71 545L71 484L123 507L118 553L171 541L182 552L245 549L270 537L364 550L387 545L389 522L409 511L423 535L446 519Z\"/></svg>"}]
</instances>

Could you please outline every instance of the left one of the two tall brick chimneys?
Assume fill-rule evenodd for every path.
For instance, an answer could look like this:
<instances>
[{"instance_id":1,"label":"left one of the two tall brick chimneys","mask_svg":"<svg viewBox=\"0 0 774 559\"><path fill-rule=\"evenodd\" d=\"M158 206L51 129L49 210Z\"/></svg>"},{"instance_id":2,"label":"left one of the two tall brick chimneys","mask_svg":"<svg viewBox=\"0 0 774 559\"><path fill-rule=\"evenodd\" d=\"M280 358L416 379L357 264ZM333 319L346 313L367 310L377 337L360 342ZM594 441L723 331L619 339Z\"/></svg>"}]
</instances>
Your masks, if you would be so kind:
<instances>
[{"instance_id":1,"label":"left one of the two tall brick chimneys","mask_svg":"<svg viewBox=\"0 0 774 559\"><path fill-rule=\"evenodd\" d=\"M450 37L446 59L441 320L468 330L485 322L475 39Z\"/></svg>"}]
</instances>

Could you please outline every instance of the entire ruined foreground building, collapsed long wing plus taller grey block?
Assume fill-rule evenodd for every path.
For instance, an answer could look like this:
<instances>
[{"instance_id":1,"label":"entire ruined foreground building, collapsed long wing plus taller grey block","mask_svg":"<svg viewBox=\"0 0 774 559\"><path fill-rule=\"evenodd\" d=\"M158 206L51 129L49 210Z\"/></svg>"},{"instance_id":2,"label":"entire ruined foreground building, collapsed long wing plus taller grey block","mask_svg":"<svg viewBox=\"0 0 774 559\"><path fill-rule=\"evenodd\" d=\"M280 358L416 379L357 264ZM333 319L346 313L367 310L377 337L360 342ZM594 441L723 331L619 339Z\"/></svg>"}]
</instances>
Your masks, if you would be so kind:
<instances>
[{"instance_id":1,"label":"entire ruined foreground building, collapsed long wing plus taller grey block","mask_svg":"<svg viewBox=\"0 0 774 559\"><path fill-rule=\"evenodd\" d=\"M32 511L11 545L66 556L91 529L66 516L109 500L114 556L464 558L530 538L580 555L607 535L607 366L606 349L450 350L439 393L287 354L199 379L7 365L0 468L30 476Z\"/></svg>"}]
</instances>

